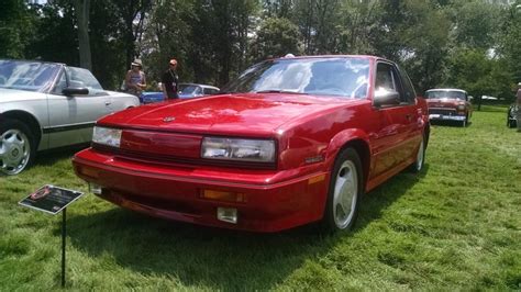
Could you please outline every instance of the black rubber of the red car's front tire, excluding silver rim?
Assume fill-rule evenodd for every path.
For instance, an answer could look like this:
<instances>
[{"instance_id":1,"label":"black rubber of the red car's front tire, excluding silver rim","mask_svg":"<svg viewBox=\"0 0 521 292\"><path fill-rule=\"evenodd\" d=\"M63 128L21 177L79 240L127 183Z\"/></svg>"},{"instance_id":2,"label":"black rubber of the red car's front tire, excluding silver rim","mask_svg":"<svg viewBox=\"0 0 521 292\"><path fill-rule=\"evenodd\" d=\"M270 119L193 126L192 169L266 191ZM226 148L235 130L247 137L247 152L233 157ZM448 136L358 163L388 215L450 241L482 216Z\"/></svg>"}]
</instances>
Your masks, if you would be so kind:
<instances>
[{"instance_id":1,"label":"black rubber of the red car's front tire, excluding silver rim","mask_svg":"<svg viewBox=\"0 0 521 292\"><path fill-rule=\"evenodd\" d=\"M334 196L334 186L336 183L336 176L340 171L340 167L346 160L351 160L355 167L358 178L358 193L355 203L355 210L353 214L353 218L351 220L350 224L343 229L336 226L334 221L334 212L333 212L333 196ZM359 159L358 154L353 148L344 148L342 149L339 155L336 156L333 170L331 171L331 179L328 190L328 200L325 203L324 214L322 218L322 226L328 232L342 232L342 231L350 231L356 222L356 217L358 215L358 205L364 193L364 173L362 172L362 161Z\"/></svg>"}]
</instances>

